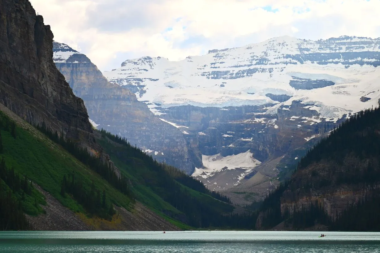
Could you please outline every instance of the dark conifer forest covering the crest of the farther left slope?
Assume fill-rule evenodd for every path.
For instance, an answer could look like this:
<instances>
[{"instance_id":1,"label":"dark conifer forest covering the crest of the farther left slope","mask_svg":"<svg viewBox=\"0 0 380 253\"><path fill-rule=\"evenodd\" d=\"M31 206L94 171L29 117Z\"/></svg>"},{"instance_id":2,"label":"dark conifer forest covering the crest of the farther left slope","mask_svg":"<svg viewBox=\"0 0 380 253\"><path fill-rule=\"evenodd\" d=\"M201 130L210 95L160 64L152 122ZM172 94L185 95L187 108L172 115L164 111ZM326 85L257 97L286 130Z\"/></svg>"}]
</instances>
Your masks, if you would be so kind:
<instances>
[{"instance_id":1,"label":"dark conifer forest covering the crest of the farther left slope","mask_svg":"<svg viewBox=\"0 0 380 253\"><path fill-rule=\"evenodd\" d=\"M183 213L161 210L170 217L196 228L225 227L248 229L254 227L256 213L232 214L230 199L208 190L202 182L172 166L158 163L142 150L133 147L125 138L101 130L103 138L121 144L124 148L109 146L107 152L124 164L134 164L130 173L140 179L164 201ZM216 200L217 199L217 200ZM218 201L219 200L219 201Z\"/></svg>"}]
</instances>

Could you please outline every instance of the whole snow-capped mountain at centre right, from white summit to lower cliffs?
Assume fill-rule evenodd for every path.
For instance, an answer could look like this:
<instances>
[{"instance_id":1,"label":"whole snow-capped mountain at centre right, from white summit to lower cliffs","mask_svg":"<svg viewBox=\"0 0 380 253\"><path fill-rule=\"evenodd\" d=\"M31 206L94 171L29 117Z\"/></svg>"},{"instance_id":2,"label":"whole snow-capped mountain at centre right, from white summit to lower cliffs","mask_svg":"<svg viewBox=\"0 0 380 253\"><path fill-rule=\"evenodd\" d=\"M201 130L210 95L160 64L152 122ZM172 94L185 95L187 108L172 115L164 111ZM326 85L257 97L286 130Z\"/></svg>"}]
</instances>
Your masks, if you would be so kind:
<instances>
[{"instance_id":1,"label":"whole snow-capped mountain at centre right, from white summit to lower cliffs","mask_svg":"<svg viewBox=\"0 0 380 253\"><path fill-rule=\"evenodd\" d=\"M380 38L283 36L177 62L126 60L104 75L135 93L162 120L182 126L185 137L197 138L204 167L193 176L208 187L227 190L246 180L267 189L279 169L302 155L300 150L350 114L377 106L379 65ZM222 164L223 157L242 154L261 162L249 167L245 179L237 162ZM213 164L228 167L228 173Z\"/></svg>"}]
</instances>

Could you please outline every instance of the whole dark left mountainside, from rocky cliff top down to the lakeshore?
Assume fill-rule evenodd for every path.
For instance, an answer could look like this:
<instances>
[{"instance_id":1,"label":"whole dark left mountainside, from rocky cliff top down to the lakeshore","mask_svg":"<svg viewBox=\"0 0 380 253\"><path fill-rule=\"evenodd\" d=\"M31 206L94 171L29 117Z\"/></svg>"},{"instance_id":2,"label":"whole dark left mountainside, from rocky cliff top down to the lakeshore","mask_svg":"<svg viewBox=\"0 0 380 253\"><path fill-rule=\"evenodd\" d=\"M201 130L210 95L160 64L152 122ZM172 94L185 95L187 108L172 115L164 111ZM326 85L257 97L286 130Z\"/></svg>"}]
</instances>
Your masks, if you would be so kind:
<instances>
[{"instance_id":1,"label":"whole dark left mountainside, from rocky cliff top down to the lakeshore","mask_svg":"<svg viewBox=\"0 0 380 253\"><path fill-rule=\"evenodd\" d=\"M28 0L4 0L0 12L0 229L254 227L254 213L93 130L43 17Z\"/></svg>"}]
</instances>

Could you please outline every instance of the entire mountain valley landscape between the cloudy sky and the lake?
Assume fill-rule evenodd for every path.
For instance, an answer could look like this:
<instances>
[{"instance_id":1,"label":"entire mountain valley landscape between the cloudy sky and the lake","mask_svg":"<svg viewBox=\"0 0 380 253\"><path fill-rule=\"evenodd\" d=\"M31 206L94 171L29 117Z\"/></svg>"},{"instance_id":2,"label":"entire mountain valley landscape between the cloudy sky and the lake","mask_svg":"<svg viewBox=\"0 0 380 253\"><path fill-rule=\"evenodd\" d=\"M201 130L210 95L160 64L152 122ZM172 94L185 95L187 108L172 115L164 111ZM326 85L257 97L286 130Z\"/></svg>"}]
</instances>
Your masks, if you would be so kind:
<instances>
[{"instance_id":1,"label":"entire mountain valley landscape between the cloudy sky and the lake","mask_svg":"<svg viewBox=\"0 0 380 253\"><path fill-rule=\"evenodd\" d=\"M101 72L28 0L0 13L0 229L380 229L380 38Z\"/></svg>"}]
</instances>

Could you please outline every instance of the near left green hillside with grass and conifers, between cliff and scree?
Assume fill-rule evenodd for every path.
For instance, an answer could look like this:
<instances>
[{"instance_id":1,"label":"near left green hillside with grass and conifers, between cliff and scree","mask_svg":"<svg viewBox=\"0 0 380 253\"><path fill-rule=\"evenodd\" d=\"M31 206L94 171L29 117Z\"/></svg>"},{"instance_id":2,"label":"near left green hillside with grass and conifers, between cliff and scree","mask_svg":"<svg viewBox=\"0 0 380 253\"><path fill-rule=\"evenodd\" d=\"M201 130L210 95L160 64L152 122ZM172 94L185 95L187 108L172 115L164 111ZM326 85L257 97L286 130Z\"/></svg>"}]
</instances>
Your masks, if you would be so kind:
<instances>
[{"instance_id":1,"label":"near left green hillside with grass and conifers, between cliff and scree","mask_svg":"<svg viewBox=\"0 0 380 253\"><path fill-rule=\"evenodd\" d=\"M100 168L99 159L83 153L82 159L98 160L98 164L81 163L63 146L30 128L34 133L21 128L0 111L0 229L30 228L24 213L44 212L40 206L46 204L44 196L33 183L52 194L63 206L88 218L98 216L110 220L114 214L112 204L126 209L133 207L131 194L118 190L117 185L107 182L110 180L101 173L93 173Z\"/></svg>"}]
</instances>

